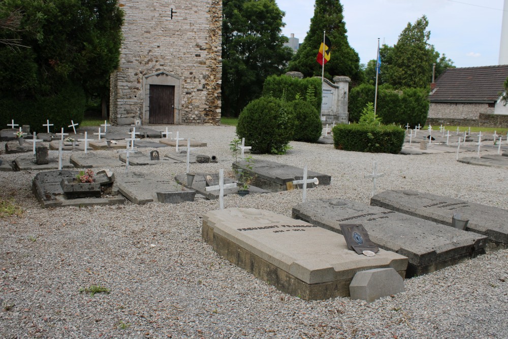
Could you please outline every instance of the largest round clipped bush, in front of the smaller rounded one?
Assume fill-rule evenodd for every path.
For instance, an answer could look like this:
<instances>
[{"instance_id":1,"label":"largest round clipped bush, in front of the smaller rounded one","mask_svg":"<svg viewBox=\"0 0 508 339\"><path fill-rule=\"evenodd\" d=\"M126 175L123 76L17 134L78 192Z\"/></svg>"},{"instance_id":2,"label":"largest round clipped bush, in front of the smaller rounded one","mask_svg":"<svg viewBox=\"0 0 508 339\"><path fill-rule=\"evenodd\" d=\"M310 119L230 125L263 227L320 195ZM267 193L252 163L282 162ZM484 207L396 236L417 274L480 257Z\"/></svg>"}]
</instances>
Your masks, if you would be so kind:
<instances>
[{"instance_id":1,"label":"largest round clipped bush, in front of the smaller rounded one","mask_svg":"<svg viewBox=\"0 0 508 339\"><path fill-rule=\"evenodd\" d=\"M284 103L261 97L245 106L238 117L236 134L254 153L284 154L292 140L294 119Z\"/></svg>"}]
</instances>

